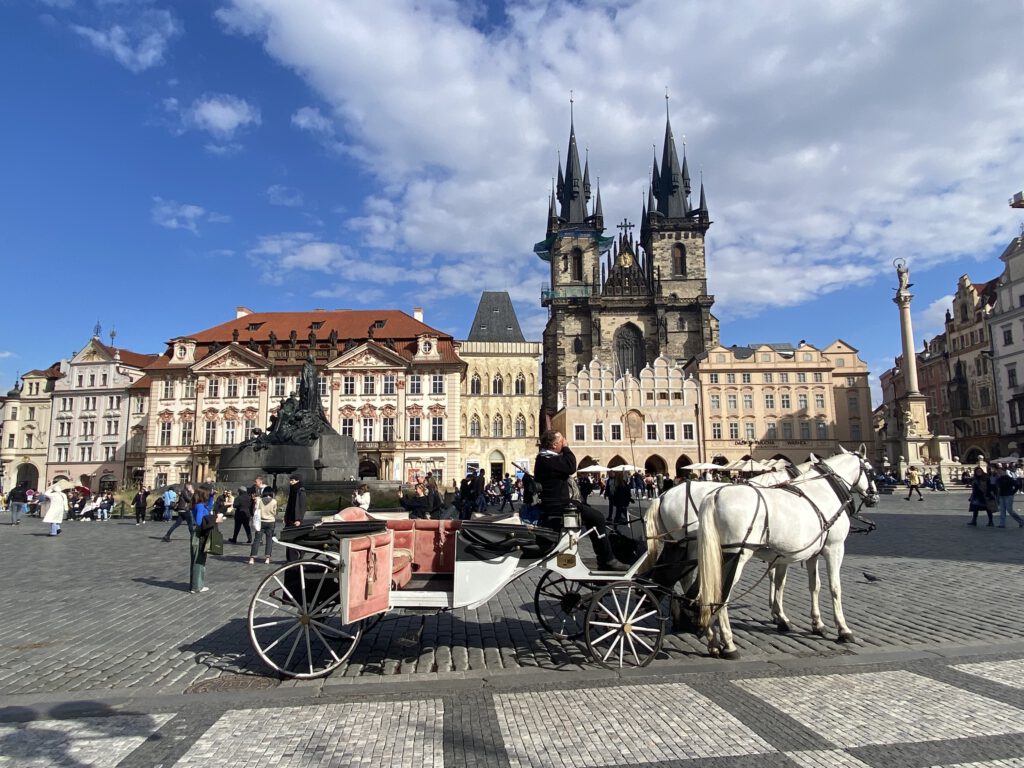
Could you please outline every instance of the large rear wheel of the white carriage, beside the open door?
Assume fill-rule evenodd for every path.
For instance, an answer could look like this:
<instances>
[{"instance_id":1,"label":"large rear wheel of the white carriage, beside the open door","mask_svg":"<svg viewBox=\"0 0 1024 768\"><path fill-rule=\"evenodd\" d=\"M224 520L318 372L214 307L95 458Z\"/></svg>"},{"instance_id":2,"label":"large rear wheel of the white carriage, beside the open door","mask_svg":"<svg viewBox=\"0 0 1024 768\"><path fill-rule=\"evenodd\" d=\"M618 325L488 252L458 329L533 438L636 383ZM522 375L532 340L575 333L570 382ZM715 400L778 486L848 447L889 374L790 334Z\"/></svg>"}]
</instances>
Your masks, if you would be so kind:
<instances>
[{"instance_id":1,"label":"large rear wheel of the white carriage, beside the open door","mask_svg":"<svg viewBox=\"0 0 1024 768\"><path fill-rule=\"evenodd\" d=\"M341 623L338 570L316 560L290 562L263 580L249 603L249 638L274 672L324 677L343 665L362 622Z\"/></svg>"}]
</instances>

